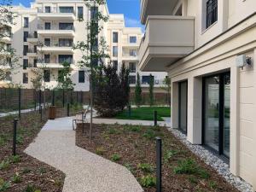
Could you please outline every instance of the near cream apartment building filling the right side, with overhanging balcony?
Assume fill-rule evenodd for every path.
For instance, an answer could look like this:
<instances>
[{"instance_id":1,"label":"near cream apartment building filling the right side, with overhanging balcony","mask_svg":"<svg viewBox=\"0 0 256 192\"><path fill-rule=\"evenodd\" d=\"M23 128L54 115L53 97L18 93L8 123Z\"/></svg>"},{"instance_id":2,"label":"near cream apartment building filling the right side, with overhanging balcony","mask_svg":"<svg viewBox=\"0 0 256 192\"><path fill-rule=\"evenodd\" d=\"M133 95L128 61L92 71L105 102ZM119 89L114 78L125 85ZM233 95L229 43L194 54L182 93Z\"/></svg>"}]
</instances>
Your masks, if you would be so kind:
<instances>
[{"instance_id":1,"label":"near cream apartment building filling the right side, with overhanging balcony","mask_svg":"<svg viewBox=\"0 0 256 192\"><path fill-rule=\"evenodd\" d=\"M256 1L141 0L142 71L172 79L172 128L256 190Z\"/></svg>"}]
</instances>

